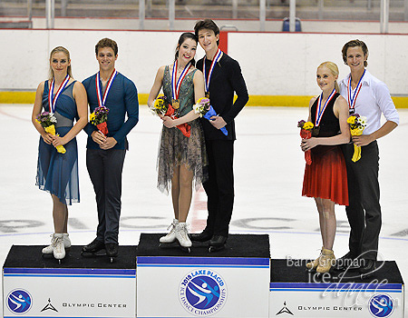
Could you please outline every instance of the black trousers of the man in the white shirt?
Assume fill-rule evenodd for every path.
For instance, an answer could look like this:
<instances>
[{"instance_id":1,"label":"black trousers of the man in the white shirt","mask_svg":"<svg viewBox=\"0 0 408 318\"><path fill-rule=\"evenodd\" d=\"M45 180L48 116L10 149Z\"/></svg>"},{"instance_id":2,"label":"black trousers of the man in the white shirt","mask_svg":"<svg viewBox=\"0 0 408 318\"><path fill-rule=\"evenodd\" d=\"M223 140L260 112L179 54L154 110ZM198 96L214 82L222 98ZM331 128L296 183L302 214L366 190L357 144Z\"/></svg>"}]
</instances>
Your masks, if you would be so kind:
<instances>
[{"instance_id":1,"label":"black trousers of the man in the white shirt","mask_svg":"<svg viewBox=\"0 0 408 318\"><path fill-rule=\"evenodd\" d=\"M349 205L345 207L351 227L349 248L364 259L376 259L381 230L379 152L376 141L361 147L361 158L353 162L354 144L343 146L348 178Z\"/></svg>"}]
</instances>

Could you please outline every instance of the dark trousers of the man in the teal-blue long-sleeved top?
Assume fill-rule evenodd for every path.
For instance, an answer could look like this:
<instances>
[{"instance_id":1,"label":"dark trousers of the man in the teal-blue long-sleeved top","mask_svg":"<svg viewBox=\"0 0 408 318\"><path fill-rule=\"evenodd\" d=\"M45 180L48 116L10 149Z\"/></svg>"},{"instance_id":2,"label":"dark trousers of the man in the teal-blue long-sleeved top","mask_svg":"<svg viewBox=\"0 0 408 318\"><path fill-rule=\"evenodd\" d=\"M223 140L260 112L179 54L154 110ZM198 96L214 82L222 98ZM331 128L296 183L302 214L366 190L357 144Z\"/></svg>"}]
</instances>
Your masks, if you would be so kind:
<instances>
[{"instance_id":1,"label":"dark trousers of the man in the teal-blue long-sleeved top","mask_svg":"<svg viewBox=\"0 0 408 318\"><path fill-rule=\"evenodd\" d=\"M87 149L86 167L96 194L98 228L96 238L118 243L121 215L121 172L126 150Z\"/></svg>"}]
</instances>

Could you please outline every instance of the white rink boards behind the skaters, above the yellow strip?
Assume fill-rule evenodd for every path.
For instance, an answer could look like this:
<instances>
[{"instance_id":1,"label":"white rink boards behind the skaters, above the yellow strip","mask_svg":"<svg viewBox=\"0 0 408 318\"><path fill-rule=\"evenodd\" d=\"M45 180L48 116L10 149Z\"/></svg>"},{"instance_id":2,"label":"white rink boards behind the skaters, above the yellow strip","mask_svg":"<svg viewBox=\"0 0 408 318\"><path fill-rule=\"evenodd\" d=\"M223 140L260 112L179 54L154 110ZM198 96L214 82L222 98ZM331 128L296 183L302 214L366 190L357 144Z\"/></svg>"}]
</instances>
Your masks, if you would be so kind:
<instances>
[{"instance_id":1,"label":"white rink boards behind the skaters, above the yellow strip","mask_svg":"<svg viewBox=\"0 0 408 318\"><path fill-rule=\"evenodd\" d=\"M94 45L111 37L119 45L117 70L128 76L141 94L148 94L160 65L173 61L181 31L94 31L94 30L0 30L3 56L0 59L0 89L35 90L48 74L53 47L71 52L73 76L83 80L98 65ZM393 95L406 95L408 81L408 35L229 33L228 55L237 59L251 95L318 94L316 67L330 60L344 65L341 48L358 38L369 49L368 70L383 80ZM7 44L7 45L5 45ZM204 53L199 47L198 57Z\"/></svg>"}]
</instances>

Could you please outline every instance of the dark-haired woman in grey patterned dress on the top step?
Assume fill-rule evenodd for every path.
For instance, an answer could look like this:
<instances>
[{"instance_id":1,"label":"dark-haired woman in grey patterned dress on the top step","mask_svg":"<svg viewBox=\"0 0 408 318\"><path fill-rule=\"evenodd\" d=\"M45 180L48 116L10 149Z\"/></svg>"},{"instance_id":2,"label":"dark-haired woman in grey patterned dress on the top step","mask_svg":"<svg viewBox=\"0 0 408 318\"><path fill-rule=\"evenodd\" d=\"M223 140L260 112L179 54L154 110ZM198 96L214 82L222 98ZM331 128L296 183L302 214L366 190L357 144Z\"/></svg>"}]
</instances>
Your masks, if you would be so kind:
<instances>
[{"instance_id":1,"label":"dark-haired woman in grey patterned dress on the top step","mask_svg":"<svg viewBox=\"0 0 408 318\"><path fill-rule=\"evenodd\" d=\"M199 185L206 181L203 168L207 165L199 114L195 114L192 109L193 104L204 97L204 76L194 66L197 44L196 35L180 35L174 64L159 68L148 99L148 105L151 107L162 87L169 103L177 108L179 118L161 116L163 128L157 163L157 186L166 194L171 189L174 220L170 224L170 233L161 237L160 243L173 243L177 240L182 247L188 249L191 241L186 220L191 204L192 183L194 180L195 188L198 189ZM184 123L190 126L189 137L176 127Z\"/></svg>"}]
</instances>

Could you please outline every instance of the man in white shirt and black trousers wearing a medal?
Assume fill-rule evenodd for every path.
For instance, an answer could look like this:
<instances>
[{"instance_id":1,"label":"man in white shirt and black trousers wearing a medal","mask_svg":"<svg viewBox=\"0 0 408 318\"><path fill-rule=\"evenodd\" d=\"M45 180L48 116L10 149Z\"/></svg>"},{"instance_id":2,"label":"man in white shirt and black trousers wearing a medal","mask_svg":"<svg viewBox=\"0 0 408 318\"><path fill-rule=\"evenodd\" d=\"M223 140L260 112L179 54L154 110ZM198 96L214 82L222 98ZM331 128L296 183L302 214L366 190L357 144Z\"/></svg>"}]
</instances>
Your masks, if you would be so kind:
<instances>
[{"instance_id":1,"label":"man in white shirt and black trousers wearing a medal","mask_svg":"<svg viewBox=\"0 0 408 318\"><path fill-rule=\"evenodd\" d=\"M345 208L351 227L349 249L337 263L347 267L359 258L359 271L372 273L378 253L381 230L380 187L378 184L379 152L377 139L389 134L399 124L399 115L387 86L365 70L368 48L363 41L352 40L343 46L343 60L350 74L340 82L340 94L348 102L350 114L367 118L362 135L345 144L349 206ZM386 122L381 124L381 114ZM354 144L361 146L361 158L353 162Z\"/></svg>"}]
</instances>

